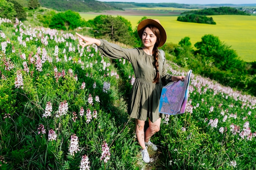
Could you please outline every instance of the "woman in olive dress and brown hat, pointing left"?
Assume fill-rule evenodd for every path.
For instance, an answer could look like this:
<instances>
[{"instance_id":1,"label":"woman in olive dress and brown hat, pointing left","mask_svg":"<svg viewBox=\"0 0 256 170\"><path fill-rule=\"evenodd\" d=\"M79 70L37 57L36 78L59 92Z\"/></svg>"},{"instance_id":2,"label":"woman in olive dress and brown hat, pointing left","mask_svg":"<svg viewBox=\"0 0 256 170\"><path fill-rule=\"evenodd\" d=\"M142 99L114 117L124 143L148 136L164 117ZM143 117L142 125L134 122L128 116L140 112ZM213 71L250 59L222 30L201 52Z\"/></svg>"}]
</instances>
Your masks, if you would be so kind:
<instances>
[{"instance_id":1,"label":"woman in olive dress and brown hat, pointing left","mask_svg":"<svg viewBox=\"0 0 256 170\"><path fill-rule=\"evenodd\" d=\"M158 47L166 42L166 32L159 20L142 20L137 27L137 32L144 46L134 49L121 48L106 40L88 38L78 33L76 35L81 38L79 40L81 46L96 44L99 51L106 57L125 58L132 63L136 79L130 94L128 113L130 117L135 118L136 135L142 147L142 159L148 163L150 162L148 146L157 150L157 147L150 142L150 137L160 130L161 118L164 118L164 115L159 113L163 83L183 81L184 76L172 76L166 73L164 56L161 56L158 50ZM144 132L147 119L149 127Z\"/></svg>"}]
</instances>

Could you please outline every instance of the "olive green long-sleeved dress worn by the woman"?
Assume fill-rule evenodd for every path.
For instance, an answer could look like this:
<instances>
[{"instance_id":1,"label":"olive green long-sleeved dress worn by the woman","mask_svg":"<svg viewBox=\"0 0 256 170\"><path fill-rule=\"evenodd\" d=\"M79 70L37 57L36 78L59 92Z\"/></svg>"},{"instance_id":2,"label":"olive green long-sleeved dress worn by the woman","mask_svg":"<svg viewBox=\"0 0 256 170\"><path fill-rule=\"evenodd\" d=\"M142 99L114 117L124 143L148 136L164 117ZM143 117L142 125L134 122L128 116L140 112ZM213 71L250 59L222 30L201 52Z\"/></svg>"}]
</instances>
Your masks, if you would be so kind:
<instances>
[{"instance_id":1,"label":"olive green long-sleeved dress worn by the woman","mask_svg":"<svg viewBox=\"0 0 256 170\"><path fill-rule=\"evenodd\" d=\"M159 84L153 83L156 70L153 65L153 56L146 54L142 48L125 49L116 44L100 40L98 46L102 55L119 59L125 58L132 63L135 73L135 82L132 86L128 104L128 114L130 117L146 121L155 122L159 117L164 118L164 114L159 113L159 99L163 83L171 82L171 75L166 73L166 62L162 60L158 52L158 71L160 74Z\"/></svg>"}]
</instances>

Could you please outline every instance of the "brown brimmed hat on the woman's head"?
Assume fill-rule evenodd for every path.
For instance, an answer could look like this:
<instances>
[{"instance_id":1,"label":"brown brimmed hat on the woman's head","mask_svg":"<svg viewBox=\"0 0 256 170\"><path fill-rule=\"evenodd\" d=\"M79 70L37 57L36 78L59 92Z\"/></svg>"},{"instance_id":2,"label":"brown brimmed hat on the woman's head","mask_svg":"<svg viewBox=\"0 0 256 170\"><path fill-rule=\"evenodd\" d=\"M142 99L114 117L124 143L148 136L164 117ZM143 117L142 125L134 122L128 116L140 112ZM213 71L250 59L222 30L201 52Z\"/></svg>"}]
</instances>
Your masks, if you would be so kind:
<instances>
[{"instance_id":1,"label":"brown brimmed hat on the woman's head","mask_svg":"<svg viewBox=\"0 0 256 170\"><path fill-rule=\"evenodd\" d=\"M140 39L142 38L142 34L143 34L143 31L144 31L144 28L148 24L154 25L154 26L156 26L159 29L160 35L161 35L161 39L160 39L161 42L159 43L158 47L163 46L164 43L166 42L167 36L166 36L166 32L164 30L164 27L160 24L160 21L157 20L157 19L155 19L155 20L153 20L153 19L145 19L145 20L142 20L141 22L139 22L138 27L137 27L137 33L139 35L139 38Z\"/></svg>"}]
</instances>

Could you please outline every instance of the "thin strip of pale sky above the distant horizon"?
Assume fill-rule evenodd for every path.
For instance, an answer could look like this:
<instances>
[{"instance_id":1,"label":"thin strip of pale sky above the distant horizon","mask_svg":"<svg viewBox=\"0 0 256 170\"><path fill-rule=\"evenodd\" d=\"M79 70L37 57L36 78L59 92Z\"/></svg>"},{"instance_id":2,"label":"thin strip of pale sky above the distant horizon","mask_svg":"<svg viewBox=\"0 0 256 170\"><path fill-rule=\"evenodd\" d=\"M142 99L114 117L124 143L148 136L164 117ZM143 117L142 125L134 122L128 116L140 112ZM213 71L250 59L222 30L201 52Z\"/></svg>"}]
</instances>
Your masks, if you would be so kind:
<instances>
[{"instance_id":1,"label":"thin strip of pale sky above the distant horizon","mask_svg":"<svg viewBox=\"0 0 256 170\"><path fill-rule=\"evenodd\" d=\"M256 4L256 0L98 0L102 2L178 3L178 4Z\"/></svg>"}]
</instances>

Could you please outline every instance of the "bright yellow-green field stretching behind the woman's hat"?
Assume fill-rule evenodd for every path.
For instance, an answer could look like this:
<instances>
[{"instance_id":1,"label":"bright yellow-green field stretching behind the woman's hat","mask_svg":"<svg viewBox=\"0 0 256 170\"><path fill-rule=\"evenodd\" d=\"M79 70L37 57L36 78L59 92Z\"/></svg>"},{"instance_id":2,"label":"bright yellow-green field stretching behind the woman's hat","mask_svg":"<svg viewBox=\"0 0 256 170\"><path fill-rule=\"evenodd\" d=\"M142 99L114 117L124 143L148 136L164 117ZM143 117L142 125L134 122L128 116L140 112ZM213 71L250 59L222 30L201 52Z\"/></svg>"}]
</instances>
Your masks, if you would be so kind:
<instances>
[{"instance_id":1,"label":"bright yellow-green field stretching behind the woman's hat","mask_svg":"<svg viewBox=\"0 0 256 170\"><path fill-rule=\"evenodd\" d=\"M143 11L143 10L141 10ZM135 12L135 11L134 11ZM152 19L159 19L161 24L166 29L167 42L173 42L177 44L185 36L189 36L191 43L195 44L200 41L202 36L206 34L212 34L218 36L220 41L226 45L231 46L238 56L247 62L256 61L256 16L251 15L213 15L213 20L216 25L211 24L196 24L189 22L177 21L177 16L152 16L145 15L148 13L140 13L139 15L125 15L125 14L113 14L102 13L104 15L121 15L132 24L132 27L137 26L137 22L146 16ZM97 14L80 14L85 20L95 18Z\"/></svg>"}]
</instances>

